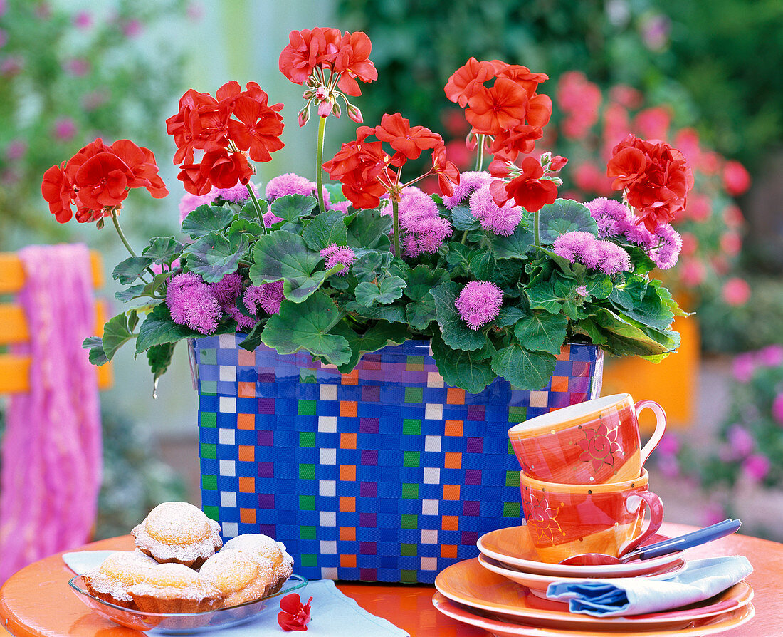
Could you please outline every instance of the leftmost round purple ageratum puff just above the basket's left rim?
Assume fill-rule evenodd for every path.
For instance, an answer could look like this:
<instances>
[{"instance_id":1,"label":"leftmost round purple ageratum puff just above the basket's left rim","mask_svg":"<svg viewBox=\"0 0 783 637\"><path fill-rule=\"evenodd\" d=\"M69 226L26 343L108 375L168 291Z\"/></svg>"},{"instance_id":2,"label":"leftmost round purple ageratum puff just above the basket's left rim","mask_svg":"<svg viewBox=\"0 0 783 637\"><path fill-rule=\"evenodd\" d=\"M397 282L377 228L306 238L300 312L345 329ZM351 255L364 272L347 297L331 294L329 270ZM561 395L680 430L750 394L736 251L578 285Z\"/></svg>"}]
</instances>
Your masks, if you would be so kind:
<instances>
[{"instance_id":1,"label":"leftmost round purple ageratum puff just above the basket's left rim","mask_svg":"<svg viewBox=\"0 0 783 637\"><path fill-rule=\"evenodd\" d=\"M220 303L211 286L190 272L177 274L168 281L166 305L171 320L201 334L212 334L222 317Z\"/></svg>"}]
</instances>

